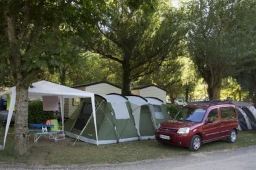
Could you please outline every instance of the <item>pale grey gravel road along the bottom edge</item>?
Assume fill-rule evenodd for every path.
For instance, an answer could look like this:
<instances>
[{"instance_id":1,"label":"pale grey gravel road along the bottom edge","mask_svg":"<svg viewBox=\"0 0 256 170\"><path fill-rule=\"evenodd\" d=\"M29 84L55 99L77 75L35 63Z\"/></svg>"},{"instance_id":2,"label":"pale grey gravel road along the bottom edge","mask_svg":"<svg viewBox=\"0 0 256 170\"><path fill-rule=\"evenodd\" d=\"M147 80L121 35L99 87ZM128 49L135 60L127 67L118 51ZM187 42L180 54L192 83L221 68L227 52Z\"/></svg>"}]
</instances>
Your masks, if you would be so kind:
<instances>
[{"instance_id":1,"label":"pale grey gravel road along the bottom edge","mask_svg":"<svg viewBox=\"0 0 256 170\"><path fill-rule=\"evenodd\" d=\"M223 150L215 152L193 153L191 156L182 158L168 158L164 160L147 160L135 163L101 164L85 166L36 166L28 167L23 165L0 166L0 169L25 170L25 169L59 169L59 170L255 170L256 169L256 146L242 149Z\"/></svg>"}]
</instances>

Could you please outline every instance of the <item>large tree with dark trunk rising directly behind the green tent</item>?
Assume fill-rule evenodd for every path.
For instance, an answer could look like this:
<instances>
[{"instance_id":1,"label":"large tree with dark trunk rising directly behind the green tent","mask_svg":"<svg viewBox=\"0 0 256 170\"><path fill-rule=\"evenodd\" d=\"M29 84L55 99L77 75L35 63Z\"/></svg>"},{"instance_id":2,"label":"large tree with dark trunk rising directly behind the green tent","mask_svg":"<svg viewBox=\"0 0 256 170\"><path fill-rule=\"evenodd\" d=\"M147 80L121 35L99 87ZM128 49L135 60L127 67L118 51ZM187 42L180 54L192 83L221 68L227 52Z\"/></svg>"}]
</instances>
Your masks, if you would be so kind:
<instances>
[{"instance_id":1,"label":"large tree with dark trunk rising directly behind the green tent","mask_svg":"<svg viewBox=\"0 0 256 170\"><path fill-rule=\"evenodd\" d=\"M88 46L122 66L123 95L130 95L131 82L157 70L180 48L182 16L167 1L159 2L120 0L99 7L102 20Z\"/></svg>"}]
</instances>

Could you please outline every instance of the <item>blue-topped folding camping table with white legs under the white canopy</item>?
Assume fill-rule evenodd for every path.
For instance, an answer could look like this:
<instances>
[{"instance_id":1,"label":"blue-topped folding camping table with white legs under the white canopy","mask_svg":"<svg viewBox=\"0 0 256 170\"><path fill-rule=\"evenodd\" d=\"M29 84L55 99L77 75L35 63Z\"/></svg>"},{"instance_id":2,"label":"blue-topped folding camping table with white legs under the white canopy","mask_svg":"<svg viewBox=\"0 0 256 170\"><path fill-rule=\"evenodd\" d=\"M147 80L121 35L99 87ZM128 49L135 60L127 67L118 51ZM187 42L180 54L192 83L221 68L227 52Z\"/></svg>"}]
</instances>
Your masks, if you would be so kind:
<instances>
[{"instance_id":1,"label":"blue-topped folding camping table with white legs under the white canopy","mask_svg":"<svg viewBox=\"0 0 256 170\"><path fill-rule=\"evenodd\" d=\"M47 134L49 135L49 138L52 137L52 139L54 139L55 142L57 142L57 132L56 131L44 131L45 128L51 128L54 125L45 125L45 124L30 124L31 127L33 128L41 128L41 131L34 131L35 133L35 137L34 137L34 142L36 143L38 141L38 139L44 135L46 136ZM39 136L38 136L39 135Z\"/></svg>"}]
</instances>

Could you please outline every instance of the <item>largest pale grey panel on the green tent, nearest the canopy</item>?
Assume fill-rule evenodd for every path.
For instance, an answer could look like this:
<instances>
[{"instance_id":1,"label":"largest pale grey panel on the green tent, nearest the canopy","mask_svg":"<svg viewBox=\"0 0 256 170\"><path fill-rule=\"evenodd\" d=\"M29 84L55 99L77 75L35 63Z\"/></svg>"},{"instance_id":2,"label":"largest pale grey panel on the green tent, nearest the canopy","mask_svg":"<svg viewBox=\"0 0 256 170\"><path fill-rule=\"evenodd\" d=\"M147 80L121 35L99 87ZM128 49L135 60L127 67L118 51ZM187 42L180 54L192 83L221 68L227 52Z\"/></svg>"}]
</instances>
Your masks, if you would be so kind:
<instances>
[{"instance_id":1,"label":"largest pale grey panel on the green tent, nearest the canopy","mask_svg":"<svg viewBox=\"0 0 256 170\"><path fill-rule=\"evenodd\" d=\"M105 99L107 99L108 102L111 103L112 108L115 111L115 118L117 119L128 119L130 118L126 102L128 101L126 98L124 98L121 95L105 95L103 96Z\"/></svg>"}]
</instances>

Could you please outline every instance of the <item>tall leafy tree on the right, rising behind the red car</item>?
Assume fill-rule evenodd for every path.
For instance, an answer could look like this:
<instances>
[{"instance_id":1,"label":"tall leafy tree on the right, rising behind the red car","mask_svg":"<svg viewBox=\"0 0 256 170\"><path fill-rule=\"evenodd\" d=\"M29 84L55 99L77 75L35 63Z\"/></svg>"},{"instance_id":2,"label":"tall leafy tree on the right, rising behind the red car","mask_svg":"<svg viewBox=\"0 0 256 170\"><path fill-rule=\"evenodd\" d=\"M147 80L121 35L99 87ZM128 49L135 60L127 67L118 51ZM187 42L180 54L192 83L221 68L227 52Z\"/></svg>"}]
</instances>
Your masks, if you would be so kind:
<instances>
[{"instance_id":1,"label":"tall leafy tree on the right, rising behind the red car","mask_svg":"<svg viewBox=\"0 0 256 170\"><path fill-rule=\"evenodd\" d=\"M187 7L189 52L208 85L209 98L220 99L221 80L231 75L238 59L245 59L241 49L248 46L248 36L254 37L249 28L244 28L247 17L252 17L248 15L250 4L239 0L194 0Z\"/></svg>"}]
</instances>

